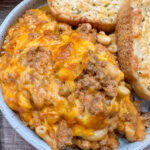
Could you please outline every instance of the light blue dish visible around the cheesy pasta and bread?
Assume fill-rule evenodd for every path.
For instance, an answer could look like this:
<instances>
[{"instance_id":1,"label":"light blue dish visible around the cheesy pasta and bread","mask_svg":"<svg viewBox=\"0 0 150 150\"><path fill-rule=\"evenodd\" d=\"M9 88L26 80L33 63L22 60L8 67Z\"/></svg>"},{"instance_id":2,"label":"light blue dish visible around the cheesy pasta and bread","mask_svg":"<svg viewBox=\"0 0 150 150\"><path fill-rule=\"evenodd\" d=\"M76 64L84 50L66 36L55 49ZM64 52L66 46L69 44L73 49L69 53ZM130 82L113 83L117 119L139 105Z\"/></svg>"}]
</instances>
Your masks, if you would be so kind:
<instances>
[{"instance_id":1,"label":"light blue dish visible around the cheesy pasta and bread","mask_svg":"<svg viewBox=\"0 0 150 150\"><path fill-rule=\"evenodd\" d=\"M34 5L36 4L36 5ZM0 33L1 33L1 42L3 40L3 37L5 35L5 32L7 31L7 29L9 28L9 26L11 24L14 23L14 21L27 9L29 8L34 8L34 7L39 7L41 6L42 4L44 4L44 1L43 3L41 1L38 1L38 0L26 0L26 1L23 1L20 5L18 5L16 7L16 9L14 9L12 11L12 13L10 13L10 15L6 18L6 20L4 21L4 23L2 24L1 26L1 29L0 29ZM14 17L15 16L15 17ZM23 125L23 123L21 123L21 121L19 120L19 118L16 116L15 113L13 113L8 107L7 105L4 103L4 100L2 98L2 95L1 95L1 101L0 101L0 107L1 107L1 110L3 111L5 117L7 118L7 120L10 122L10 124L16 129L16 131L21 135L23 136L23 138L25 140L27 140L30 144L32 144L35 148L37 149L50 149L50 147L45 143L43 142L43 140L41 140L39 137L37 137L31 130L29 130L27 127L25 127ZM145 146L147 146L147 140L148 138L144 141L144 142L136 142L136 143L133 143L133 144L128 144L126 143L124 140L121 140L121 145L120 145L120 149L130 149L132 148L133 149L133 146L134 149L142 149L144 148Z\"/></svg>"}]
</instances>

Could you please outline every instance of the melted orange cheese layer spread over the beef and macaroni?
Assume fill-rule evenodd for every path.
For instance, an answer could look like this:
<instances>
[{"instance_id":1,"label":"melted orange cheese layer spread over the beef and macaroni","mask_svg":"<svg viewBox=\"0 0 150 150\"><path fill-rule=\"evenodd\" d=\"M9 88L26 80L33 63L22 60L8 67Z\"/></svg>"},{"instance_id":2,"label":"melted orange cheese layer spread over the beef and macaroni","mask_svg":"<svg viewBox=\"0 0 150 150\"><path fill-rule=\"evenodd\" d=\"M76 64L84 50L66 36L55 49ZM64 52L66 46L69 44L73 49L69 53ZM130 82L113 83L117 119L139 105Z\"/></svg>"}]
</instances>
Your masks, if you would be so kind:
<instances>
[{"instance_id":1,"label":"melted orange cheese layer spread over the beef and macaroni","mask_svg":"<svg viewBox=\"0 0 150 150\"><path fill-rule=\"evenodd\" d=\"M96 54L99 61L107 61L115 66L118 84L124 75L108 51L102 48L97 53L96 45L82 39L76 30L58 33L59 24L43 10L35 9L28 11L8 30L2 46L6 54L0 58L3 95L9 107L17 111L33 129L46 124L47 130L57 130L56 123L64 118L74 136L90 136L109 123L103 113L95 116L89 112L81 113L80 101L74 97L74 81L86 68L90 59L89 51ZM36 57L41 51L41 55ZM71 104L67 98L59 95L62 83L72 92ZM124 96L123 99L115 97L110 106L104 105L105 111L114 114L122 110L121 100L122 103L130 103L130 96ZM131 107L134 108L134 105Z\"/></svg>"}]
</instances>

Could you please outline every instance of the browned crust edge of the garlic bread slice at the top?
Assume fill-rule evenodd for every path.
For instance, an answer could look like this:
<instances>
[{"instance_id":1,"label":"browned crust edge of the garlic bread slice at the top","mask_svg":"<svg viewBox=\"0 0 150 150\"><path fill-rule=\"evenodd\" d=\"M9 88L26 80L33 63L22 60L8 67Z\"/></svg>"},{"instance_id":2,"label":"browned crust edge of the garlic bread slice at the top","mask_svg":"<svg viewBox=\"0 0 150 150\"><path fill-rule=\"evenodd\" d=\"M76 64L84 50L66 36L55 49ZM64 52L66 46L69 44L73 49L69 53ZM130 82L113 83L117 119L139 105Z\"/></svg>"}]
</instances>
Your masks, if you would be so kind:
<instances>
[{"instance_id":1,"label":"browned crust edge of the garlic bread slice at the top","mask_svg":"<svg viewBox=\"0 0 150 150\"><path fill-rule=\"evenodd\" d=\"M88 17L80 17L78 15L69 16L54 7L54 3L55 0L48 0L51 14L59 21L66 22L72 26L77 26L82 23L90 23L94 28L97 28L98 30L103 30L105 32L113 32L115 29L116 20L109 22L102 21L100 18L96 20L95 18L89 19Z\"/></svg>"}]
</instances>

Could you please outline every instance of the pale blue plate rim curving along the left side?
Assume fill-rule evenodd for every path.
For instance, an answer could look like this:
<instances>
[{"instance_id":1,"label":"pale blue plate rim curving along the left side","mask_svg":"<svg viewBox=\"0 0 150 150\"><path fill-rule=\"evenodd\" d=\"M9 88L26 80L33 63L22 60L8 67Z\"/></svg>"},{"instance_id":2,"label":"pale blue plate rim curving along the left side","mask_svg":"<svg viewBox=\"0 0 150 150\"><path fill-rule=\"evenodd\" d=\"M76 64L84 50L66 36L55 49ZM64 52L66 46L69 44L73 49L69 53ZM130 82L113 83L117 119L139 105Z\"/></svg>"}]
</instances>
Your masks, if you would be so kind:
<instances>
[{"instance_id":1,"label":"pale blue plate rim curving along the left side","mask_svg":"<svg viewBox=\"0 0 150 150\"><path fill-rule=\"evenodd\" d=\"M8 28L29 8L37 8L36 2L40 3L41 0L23 0L20 2L4 19L0 26L0 47L4 40L5 34ZM43 2L44 4L45 2ZM42 4L42 2L41 2ZM38 5L40 6L40 4ZM23 122L17 117L17 114L13 112L5 103L1 89L0 89L0 110L3 116L13 129L29 144L31 144L37 150L52 150L50 146L42 140L38 135L34 133L30 128L26 127Z\"/></svg>"}]
</instances>

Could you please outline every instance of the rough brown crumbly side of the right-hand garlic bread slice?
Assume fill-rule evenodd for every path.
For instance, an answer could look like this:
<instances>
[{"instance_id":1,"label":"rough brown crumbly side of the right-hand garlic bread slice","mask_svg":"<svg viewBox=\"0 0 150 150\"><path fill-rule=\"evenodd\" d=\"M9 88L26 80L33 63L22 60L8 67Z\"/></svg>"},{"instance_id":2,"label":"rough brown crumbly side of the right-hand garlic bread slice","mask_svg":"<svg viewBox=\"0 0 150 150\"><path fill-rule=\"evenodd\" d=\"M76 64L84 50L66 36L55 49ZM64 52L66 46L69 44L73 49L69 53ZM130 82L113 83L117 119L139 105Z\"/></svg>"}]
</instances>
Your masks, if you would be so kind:
<instances>
[{"instance_id":1,"label":"rough brown crumbly side of the right-hand garlic bread slice","mask_svg":"<svg viewBox=\"0 0 150 150\"><path fill-rule=\"evenodd\" d=\"M135 80L135 72L137 71L137 60L134 55L133 37L132 37L132 9L130 1L124 3L118 13L117 19L117 45L118 60L120 67L129 80Z\"/></svg>"}]
</instances>

